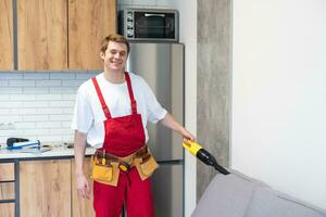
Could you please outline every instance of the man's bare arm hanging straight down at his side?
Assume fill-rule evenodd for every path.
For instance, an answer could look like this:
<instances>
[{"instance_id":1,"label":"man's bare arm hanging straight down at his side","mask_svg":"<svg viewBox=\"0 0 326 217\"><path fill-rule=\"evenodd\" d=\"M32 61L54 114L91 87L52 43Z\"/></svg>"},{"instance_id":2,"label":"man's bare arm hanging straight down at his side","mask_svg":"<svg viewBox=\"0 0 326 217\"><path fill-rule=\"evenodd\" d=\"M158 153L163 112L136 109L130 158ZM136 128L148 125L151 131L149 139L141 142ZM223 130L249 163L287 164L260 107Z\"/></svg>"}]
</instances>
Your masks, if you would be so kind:
<instances>
[{"instance_id":1,"label":"man's bare arm hanging straight down at his side","mask_svg":"<svg viewBox=\"0 0 326 217\"><path fill-rule=\"evenodd\" d=\"M89 183L84 174L86 139L87 136L85 133L75 130L74 150L75 150L75 175L76 175L77 191L79 196L89 199L89 194L90 194Z\"/></svg>"}]
</instances>

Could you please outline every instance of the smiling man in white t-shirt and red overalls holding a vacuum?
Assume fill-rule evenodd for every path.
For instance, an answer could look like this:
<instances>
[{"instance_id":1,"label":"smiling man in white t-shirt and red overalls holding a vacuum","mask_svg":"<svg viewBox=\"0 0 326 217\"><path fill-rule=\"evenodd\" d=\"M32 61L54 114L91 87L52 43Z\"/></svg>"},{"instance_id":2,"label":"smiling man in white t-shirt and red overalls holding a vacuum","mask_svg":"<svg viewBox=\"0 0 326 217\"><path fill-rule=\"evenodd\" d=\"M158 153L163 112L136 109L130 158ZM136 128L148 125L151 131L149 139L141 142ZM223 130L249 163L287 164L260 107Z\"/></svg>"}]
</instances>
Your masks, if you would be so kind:
<instances>
[{"instance_id":1,"label":"smiling man in white t-shirt and red overalls holding a vacuum","mask_svg":"<svg viewBox=\"0 0 326 217\"><path fill-rule=\"evenodd\" d=\"M83 170L86 143L98 149L96 156L102 156L99 162L103 165L106 159L116 159L121 168L116 183L93 181L93 206L98 217L118 217L123 203L128 217L154 215L150 175L143 175L135 163L140 153L149 153L146 146L148 120L162 123L185 140L196 139L160 105L140 76L124 72L128 53L129 43L123 36L105 37L100 52L104 72L84 82L76 98L72 128L75 129L78 195L89 197L90 194ZM147 158L150 156L148 154Z\"/></svg>"}]
</instances>

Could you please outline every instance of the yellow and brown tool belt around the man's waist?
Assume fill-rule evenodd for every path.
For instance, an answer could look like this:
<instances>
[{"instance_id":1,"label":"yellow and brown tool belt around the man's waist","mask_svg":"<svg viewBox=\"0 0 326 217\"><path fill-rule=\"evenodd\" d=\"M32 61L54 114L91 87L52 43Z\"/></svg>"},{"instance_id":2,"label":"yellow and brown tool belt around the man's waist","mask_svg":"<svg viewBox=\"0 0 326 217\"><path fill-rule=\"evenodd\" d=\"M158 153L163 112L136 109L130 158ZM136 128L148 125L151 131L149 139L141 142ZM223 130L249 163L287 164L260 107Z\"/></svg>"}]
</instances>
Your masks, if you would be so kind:
<instances>
[{"instance_id":1,"label":"yellow and brown tool belt around the man's waist","mask_svg":"<svg viewBox=\"0 0 326 217\"><path fill-rule=\"evenodd\" d=\"M114 187L117 186L121 170L128 173L129 169L136 167L141 180L145 180L159 167L147 145L125 157L97 150L92 156L91 164L92 174L90 178Z\"/></svg>"}]
</instances>

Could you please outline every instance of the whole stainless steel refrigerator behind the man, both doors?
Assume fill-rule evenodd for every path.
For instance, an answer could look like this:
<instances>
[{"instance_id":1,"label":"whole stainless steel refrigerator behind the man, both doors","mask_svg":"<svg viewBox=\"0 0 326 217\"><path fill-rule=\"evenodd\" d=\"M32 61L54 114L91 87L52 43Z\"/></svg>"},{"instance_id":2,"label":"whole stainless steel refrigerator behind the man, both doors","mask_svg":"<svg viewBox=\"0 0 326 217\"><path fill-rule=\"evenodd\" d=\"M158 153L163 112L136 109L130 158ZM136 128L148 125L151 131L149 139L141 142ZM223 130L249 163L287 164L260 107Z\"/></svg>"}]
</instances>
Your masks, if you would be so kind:
<instances>
[{"instance_id":1,"label":"whole stainless steel refrigerator behind the man, both doors","mask_svg":"<svg viewBox=\"0 0 326 217\"><path fill-rule=\"evenodd\" d=\"M126 71L145 78L158 101L184 125L184 46L130 43ZM148 124L148 145L159 162L152 177L155 217L184 216L183 138L161 124Z\"/></svg>"}]
</instances>

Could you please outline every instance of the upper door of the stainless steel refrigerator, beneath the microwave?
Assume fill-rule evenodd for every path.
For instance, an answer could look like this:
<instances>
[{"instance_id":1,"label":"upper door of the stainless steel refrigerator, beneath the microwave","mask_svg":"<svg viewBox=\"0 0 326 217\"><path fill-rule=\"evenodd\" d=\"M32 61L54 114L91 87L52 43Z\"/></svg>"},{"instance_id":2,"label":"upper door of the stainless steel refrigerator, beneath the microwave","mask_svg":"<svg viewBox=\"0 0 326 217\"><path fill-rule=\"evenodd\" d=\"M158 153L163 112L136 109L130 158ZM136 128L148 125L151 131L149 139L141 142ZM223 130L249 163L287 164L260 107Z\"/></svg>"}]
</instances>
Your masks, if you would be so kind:
<instances>
[{"instance_id":1,"label":"upper door of the stainless steel refrigerator, beneath the microwave","mask_svg":"<svg viewBox=\"0 0 326 217\"><path fill-rule=\"evenodd\" d=\"M184 44L130 43L126 71L140 75L158 101L184 125ZM183 159L183 138L161 124L148 124L149 142L158 161Z\"/></svg>"}]
</instances>

